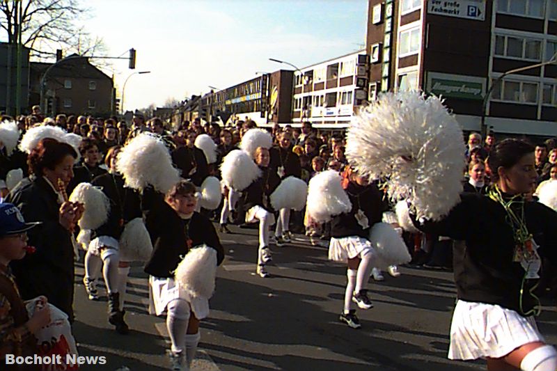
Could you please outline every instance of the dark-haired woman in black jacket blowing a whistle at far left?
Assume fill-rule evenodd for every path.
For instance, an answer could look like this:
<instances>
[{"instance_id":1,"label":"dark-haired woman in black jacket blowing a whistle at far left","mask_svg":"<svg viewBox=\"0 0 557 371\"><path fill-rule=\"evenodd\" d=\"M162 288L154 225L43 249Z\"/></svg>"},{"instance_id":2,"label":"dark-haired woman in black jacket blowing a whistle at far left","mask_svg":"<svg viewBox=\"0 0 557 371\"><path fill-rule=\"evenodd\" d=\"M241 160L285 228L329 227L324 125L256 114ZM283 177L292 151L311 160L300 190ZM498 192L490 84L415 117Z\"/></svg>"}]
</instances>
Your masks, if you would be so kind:
<instances>
[{"instance_id":1,"label":"dark-haired woman in black jacket blowing a whistle at far left","mask_svg":"<svg viewBox=\"0 0 557 371\"><path fill-rule=\"evenodd\" d=\"M12 262L13 273L23 299L40 295L63 310L73 321L74 248L72 232L83 214L83 205L65 198L65 187L73 177L77 153L68 143L42 139L29 154L28 184L20 183L8 195L8 202L21 210L26 221L42 224L29 230L29 244L36 253Z\"/></svg>"}]
</instances>

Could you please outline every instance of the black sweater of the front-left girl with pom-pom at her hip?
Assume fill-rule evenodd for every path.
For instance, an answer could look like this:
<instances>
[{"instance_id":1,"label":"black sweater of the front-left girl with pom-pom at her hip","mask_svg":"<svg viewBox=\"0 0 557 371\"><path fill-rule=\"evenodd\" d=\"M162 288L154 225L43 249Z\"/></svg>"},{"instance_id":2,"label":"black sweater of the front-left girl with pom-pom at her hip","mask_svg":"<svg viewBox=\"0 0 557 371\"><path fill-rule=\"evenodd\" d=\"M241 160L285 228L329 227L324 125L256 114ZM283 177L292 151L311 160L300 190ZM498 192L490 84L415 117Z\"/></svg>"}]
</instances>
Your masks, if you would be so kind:
<instances>
[{"instance_id":1,"label":"black sweater of the front-left girl with pom-pom at her hip","mask_svg":"<svg viewBox=\"0 0 557 371\"><path fill-rule=\"evenodd\" d=\"M217 231L214 230L211 221L198 212L194 212L191 219L184 220L167 203L157 202L147 216L146 226L153 251L145 271L151 276L174 276L173 271L189 251L188 237L191 239L191 247L207 244L214 248L217 251L217 265L224 259L224 249ZM189 232L188 236L186 229Z\"/></svg>"}]
</instances>

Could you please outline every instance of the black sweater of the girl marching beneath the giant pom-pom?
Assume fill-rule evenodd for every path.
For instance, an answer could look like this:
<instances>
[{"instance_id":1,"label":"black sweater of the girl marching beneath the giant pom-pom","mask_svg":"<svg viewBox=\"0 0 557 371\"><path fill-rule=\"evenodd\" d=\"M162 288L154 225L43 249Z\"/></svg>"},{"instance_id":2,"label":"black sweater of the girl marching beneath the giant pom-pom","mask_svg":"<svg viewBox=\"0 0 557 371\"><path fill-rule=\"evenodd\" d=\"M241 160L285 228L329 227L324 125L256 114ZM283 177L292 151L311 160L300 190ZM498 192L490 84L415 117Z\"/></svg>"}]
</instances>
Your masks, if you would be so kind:
<instances>
[{"instance_id":1,"label":"black sweater of the girl marching beneath the giant pom-pom","mask_svg":"<svg viewBox=\"0 0 557 371\"><path fill-rule=\"evenodd\" d=\"M389 203L374 183L362 187L350 182L345 189L352 203L352 210L345 214L334 216L331 221L331 237L359 236L369 238L370 228L382 220L383 212ZM359 225L356 213L361 210L368 218L368 228Z\"/></svg>"}]
</instances>

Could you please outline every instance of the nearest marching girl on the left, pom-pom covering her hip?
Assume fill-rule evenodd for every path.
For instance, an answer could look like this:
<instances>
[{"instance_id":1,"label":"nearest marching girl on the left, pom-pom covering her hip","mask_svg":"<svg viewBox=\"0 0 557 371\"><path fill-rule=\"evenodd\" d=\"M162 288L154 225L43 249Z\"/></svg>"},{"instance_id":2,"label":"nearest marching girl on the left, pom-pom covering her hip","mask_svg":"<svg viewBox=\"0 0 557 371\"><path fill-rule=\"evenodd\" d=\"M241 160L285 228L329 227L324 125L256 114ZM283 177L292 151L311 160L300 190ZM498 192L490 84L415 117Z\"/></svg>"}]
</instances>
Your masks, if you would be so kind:
<instances>
[{"instance_id":1,"label":"nearest marching girl on the left, pom-pom covering her hip","mask_svg":"<svg viewBox=\"0 0 557 371\"><path fill-rule=\"evenodd\" d=\"M150 274L150 296L157 315L166 311L166 326L172 346L172 370L189 370L199 342L199 322L209 314L205 297L192 297L175 281L174 272L191 248L205 244L217 251L223 247L216 230L205 216L195 212L196 187L181 180L148 214L146 224L155 246L145 271Z\"/></svg>"}]
</instances>

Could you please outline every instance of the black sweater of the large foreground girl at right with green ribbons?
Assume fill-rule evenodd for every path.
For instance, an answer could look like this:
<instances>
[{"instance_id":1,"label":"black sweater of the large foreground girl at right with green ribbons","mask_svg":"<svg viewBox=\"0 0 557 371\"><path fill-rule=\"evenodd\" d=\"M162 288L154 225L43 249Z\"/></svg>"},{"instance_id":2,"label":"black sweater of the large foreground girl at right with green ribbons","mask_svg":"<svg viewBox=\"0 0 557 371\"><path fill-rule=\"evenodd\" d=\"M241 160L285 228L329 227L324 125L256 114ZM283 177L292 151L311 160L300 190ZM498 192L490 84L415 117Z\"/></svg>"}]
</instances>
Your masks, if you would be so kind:
<instances>
[{"instance_id":1,"label":"black sweater of the large foreground girl at right with green ribbons","mask_svg":"<svg viewBox=\"0 0 557 371\"><path fill-rule=\"evenodd\" d=\"M461 202L441 221L420 224L414 219L416 227L464 242L453 249L459 299L496 304L524 315L535 306L529 289L538 280L526 281L521 313L519 299L525 271L519 262L512 261L515 238L505 209L480 194L464 193L460 198ZM520 212L518 204L512 208ZM528 232L540 245L538 253L556 264L557 213L541 203L526 202L524 216Z\"/></svg>"}]
</instances>

